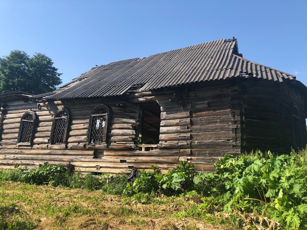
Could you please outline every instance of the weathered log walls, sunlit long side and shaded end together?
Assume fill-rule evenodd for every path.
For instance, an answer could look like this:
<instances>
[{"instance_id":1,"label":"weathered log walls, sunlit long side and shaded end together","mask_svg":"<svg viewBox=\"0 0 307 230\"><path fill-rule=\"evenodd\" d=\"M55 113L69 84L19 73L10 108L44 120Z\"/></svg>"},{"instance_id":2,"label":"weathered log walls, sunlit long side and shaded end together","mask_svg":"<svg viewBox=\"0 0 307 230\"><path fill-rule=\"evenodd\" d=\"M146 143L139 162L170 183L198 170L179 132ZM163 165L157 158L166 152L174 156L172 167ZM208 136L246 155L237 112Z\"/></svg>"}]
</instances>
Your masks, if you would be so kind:
<instances>
[{"instance_id":1,"label":"weathered log walls, sunlit long side and shaded end together","mask_svg":"<svg viewBox=\"0 0 307 230\"><path fill-rule=\"evenodd\" d=\"M139 103L161 106L159 144L151 151L134 145L140 122ZM196 171L215 171L213 164L224 154L240 154L260 148L287 151L293 144L290 107L299 105L305 125L304 99L296 87L258 79L228 79L167 87L150 92L109 98L63 101L8 102L1 111L0 166L37 167L44 162L72 165L76 171L115 174L131 168L163 173L179 160ZM39 109L37 105L40 104ZM113 115L105 144L86 143L89 116L96 105L106 104ZM50 144L52 119L58 109L71 112L67 144ZM18 146L21 116L38 115L33 145ZM302 138L307 139L306 129Z\"/></svg>"}]
</instances>

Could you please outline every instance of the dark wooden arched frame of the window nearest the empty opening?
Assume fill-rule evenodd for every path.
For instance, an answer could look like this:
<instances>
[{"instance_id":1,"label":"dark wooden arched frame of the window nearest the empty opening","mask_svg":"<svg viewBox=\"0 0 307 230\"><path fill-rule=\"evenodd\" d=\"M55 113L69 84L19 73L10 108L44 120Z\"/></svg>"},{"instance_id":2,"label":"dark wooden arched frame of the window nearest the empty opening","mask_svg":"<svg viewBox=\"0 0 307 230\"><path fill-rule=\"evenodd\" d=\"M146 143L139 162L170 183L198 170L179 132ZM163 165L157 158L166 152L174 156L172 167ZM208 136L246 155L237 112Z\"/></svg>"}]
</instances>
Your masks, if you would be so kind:
<instances>
[{"instance_id":1,"label":"dark wooden arched frame of the window nearest the empty opening","mask_svg":"<svg viewBox=\"0 0 307 230\"><path fill-rule=\"evenodd\" d=\"M101 108L106 110L107 113L94 114L96 110L99 110ZM92 127L93 127L93 117L101 116L101 115L106 116L106 124L105 124L104 130L103 130L103 142L93 143L93 142L91 142L91 134L92 134L91 130L92 130ZM111 117L112 117L112 109L111 109L110 106L100 104L100 105L97 105L92 110L92 112L90 114L90 119L88 121L87 137L86 137L87 144L96 145L96 144L106 144L107 143L107 136L108 136Z\"/></svg>"}]
</instances>

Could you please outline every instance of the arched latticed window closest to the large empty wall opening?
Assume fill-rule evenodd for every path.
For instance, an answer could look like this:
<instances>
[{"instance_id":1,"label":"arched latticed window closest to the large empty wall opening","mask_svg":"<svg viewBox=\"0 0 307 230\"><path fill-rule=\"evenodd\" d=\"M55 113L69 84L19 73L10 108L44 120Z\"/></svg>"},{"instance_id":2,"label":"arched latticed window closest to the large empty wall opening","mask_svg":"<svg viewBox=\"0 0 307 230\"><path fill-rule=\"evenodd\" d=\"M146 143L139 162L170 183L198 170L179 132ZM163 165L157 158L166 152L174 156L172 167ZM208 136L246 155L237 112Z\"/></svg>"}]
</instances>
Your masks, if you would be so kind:
<instances>
[{"instance_id":1,"label":"arched latticed window closest to the large empty wall opening","mask_svg":"<svg viewBox=\"0 0 307 230\"><path fill-rule=\"evenodd\" d=\"M91 115L87 130L87 143L106 142L107 130L112 117L112 110L107 105L97 105Z\"/></svg>"}]
</instances>

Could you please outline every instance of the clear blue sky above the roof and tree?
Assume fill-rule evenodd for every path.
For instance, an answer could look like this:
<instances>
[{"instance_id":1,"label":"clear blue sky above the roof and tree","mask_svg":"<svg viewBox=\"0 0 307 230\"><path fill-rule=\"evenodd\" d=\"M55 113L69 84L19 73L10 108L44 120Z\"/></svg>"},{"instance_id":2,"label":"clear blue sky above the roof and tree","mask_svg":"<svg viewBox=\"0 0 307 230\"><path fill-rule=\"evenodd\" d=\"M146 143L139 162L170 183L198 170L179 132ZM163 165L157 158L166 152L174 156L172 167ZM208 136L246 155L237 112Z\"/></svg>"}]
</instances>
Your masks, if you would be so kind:
<instances>
[{"instance_id":1,"label":"clear blue sky above the roof and tree","mask_svg":"<svg viewBox=\"0 0 307 230\"><path fill-rule=\"evenodd\" d=\"M307 85L307 1L0 2L0 56L45 53L63 83L91 67L221 38Z\"/></svg>"}]
</instances>

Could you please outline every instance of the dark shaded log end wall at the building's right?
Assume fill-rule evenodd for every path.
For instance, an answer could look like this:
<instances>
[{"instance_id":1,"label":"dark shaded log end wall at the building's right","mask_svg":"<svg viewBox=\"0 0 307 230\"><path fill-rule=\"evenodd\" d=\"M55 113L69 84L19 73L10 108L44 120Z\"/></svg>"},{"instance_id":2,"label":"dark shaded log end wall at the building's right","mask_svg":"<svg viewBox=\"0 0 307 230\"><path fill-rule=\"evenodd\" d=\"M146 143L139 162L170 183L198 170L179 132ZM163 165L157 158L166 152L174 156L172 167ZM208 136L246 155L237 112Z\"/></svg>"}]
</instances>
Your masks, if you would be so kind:
<instances>
[{"instance_id":1,"label":"dark shaded log end wall at the building's right","mask_svg":"<svg viewBox=\"0 0 307 230\"><path fill-rule=\"evenodd\" d=\"M290 83L257 79L240 82L242 99L242 152L273 151L289 153L293 147L292 109L296 104L301 115L300 148L307 140L304 97L298 87Z\"/></svg>"}]
</instances>

